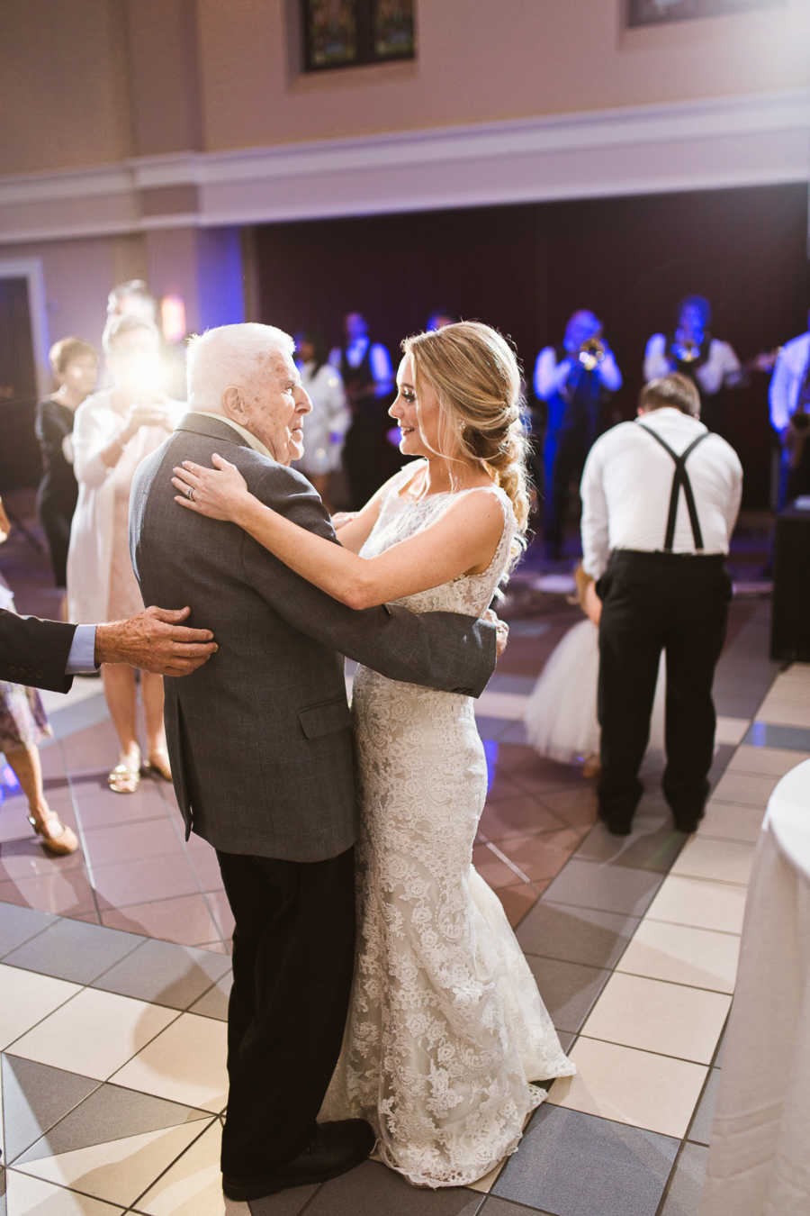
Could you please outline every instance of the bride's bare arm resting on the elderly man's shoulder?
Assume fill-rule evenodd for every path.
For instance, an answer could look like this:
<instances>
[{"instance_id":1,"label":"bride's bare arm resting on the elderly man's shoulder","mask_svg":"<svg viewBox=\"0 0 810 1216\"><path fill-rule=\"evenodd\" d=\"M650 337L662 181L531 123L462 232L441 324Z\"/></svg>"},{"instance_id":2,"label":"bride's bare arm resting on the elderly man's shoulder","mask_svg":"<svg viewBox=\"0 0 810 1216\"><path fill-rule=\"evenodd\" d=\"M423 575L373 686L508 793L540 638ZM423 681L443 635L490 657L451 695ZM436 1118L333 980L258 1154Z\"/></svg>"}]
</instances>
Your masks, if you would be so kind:
<instances>
[{"instance_id":1,"label":"bride's bare arm resting on the elderly man's shoulder","mask_svg":"<svg viewBox=\"0 0 810 1216\"><path fill-rule=\"evenodd\" d=\"M459 495L429 528L378 557L363 558L287 518L294 514L289 506L295 492L284 495L282 514L250 494L236 466L221 456L211 460L216 468L183 461L175 469L172 483L181 491L176 501L188 511L238 524L291 570L349 608L373 608L486 569L504 528L498 495L482 486ZM298 479L289 475L293 491Z\"/></svg>"}]
</instances>

